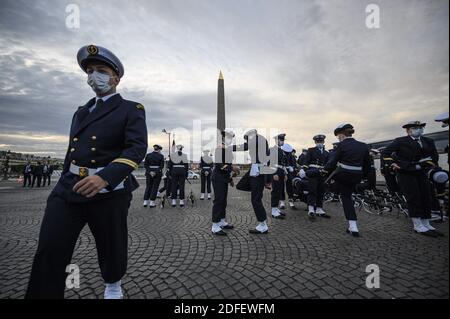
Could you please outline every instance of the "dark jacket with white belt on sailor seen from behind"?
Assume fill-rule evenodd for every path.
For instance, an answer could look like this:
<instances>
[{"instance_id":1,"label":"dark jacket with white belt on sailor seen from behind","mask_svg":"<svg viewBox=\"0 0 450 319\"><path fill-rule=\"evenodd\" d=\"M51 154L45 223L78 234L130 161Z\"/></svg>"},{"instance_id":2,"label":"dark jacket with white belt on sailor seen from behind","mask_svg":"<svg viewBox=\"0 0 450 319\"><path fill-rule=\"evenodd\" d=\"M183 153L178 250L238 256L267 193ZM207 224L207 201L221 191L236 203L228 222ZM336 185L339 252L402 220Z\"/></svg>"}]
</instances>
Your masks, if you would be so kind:
<instances>
[{"instance_id":1,"label":"dark jacket with white belt on sailor seen from behind","mask_svg":"<svg viewBox=\"0 0 450 319\"><path fill-rule=\"evenodd\" d=\"M339 171L362 174L362 177L367 178L371 166L367 144L359 142L351 137L344 139L329 155L328 162L324 168L325 171L331 173L338 166L338 163L361 168L361 170L358 171L340 167Z\"/></svg>"}]
</instances>

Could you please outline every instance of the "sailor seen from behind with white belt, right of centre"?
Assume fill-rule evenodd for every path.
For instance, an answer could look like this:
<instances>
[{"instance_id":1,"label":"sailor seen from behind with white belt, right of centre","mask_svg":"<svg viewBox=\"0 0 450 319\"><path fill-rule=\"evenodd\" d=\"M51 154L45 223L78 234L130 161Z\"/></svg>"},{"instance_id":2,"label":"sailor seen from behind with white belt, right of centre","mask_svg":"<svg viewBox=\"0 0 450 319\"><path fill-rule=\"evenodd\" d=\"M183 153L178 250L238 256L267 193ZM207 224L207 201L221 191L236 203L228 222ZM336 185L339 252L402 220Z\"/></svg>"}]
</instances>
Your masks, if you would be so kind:
<instances>
[{"instance_id":1,"label":"sailor seen from behind with white belt, right of centre","mask_svg":"<svg viewBox=\"0 0 450 319\"><path fill-rule=\"evenodd\" d=\"M330 154L324 172L333 172L337 191L341 196L345 217L349 226L347 233L359 237L355 206L352 193L362 179L367 178L370 169L369 148L367 144L355 140L351 124L341 124L334 130L339 144Z\"/></svg>"}]
</instances>

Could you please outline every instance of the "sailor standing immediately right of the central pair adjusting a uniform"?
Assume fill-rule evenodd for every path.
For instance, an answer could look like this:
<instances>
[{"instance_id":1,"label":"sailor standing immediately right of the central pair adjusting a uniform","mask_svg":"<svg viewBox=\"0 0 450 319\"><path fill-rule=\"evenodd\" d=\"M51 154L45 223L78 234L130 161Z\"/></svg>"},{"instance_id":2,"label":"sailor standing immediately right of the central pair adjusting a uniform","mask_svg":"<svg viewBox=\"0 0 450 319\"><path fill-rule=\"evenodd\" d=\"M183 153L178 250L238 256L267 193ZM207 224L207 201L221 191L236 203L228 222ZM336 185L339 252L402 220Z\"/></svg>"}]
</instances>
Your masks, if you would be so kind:
<instances>
[{"instance_id":1,"label":"sailor standing immediately right of the central pair adjusting a uniform","mask_svg":"<svg viewBox=\"0 0 450 319\"><path fill-rule=\"evenodd\" d=\"M284 219L285 213L279 209L284 193L284 183L287 180L287 156L282 150L286 134L278 134L274 136L276 145L270 148L270 166L276 169L272 175L272 191L270 192L270 205L272 209L272 218ZM273 162L272 162L273 161ZM285 206L284 201L282 203Z\"/></svg>"}]
</instances>

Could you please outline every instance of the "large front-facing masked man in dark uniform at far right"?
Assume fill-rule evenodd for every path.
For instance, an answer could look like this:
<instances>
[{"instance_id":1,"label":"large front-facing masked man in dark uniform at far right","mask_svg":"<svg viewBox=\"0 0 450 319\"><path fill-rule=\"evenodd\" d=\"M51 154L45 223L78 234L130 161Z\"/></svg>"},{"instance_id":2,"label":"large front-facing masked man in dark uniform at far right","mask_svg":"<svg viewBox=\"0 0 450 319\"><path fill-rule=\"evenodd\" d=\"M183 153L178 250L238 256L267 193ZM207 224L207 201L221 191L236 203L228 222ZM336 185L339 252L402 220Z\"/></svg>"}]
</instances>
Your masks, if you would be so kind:
<instances>
[{"instance_id":1,"label":"large front-facing masked man in dark uniform at far right","mask_svg":"<svg viewBox=\"0 0 450 319\"><path fill-rule=\"evenodd\" d=\"M431 189L426 171L437 167L439 155L434 141L423 136L426 123L412 121L402 127L406 136L396 138L383 151L385 161L397 174L398 185L406 197L408 214L418 234L439 237L442 234L430 225Z\"/></svg>"}]
</instances>

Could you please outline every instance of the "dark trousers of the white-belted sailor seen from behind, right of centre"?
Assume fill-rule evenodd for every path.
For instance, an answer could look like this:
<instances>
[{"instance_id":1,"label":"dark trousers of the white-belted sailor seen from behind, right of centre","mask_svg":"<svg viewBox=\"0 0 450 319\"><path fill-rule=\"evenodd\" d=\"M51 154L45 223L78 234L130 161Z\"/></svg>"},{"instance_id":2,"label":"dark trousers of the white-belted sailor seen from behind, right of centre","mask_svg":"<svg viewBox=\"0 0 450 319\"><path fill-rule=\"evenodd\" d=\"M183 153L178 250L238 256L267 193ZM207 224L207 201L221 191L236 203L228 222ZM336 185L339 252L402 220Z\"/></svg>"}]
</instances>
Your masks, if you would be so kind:
<instances>
[{"instance_id":1,"label":"dark trousers of the white-belted sailor seen from behind, right of centre","mask_svg":"<svg viewBox=\"0 0 450 319\"><path fill-rule=\"evenodd\" d=\"M356 185L361 182L362 175L353 172L340 172L335 174L333 178L336 182L336 190L341 196L345 218L347 220L358 220L352 194Z\"/></svg>"}]
</instances>

